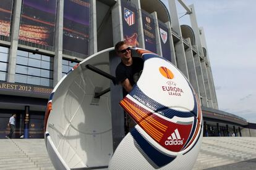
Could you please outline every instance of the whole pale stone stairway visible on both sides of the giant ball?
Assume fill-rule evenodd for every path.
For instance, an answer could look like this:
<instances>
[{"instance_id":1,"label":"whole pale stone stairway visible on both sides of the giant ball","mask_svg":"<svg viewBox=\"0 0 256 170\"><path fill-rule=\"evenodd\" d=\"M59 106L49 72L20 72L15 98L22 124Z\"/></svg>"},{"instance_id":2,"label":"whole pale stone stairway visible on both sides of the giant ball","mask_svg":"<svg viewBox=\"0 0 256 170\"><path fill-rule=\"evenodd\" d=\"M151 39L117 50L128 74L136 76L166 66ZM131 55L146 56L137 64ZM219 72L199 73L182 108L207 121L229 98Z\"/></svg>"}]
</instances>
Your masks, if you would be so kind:
<instances>
[{"instance_id":1,"label":"whole pale stone stairway visible on both sides of the giant ball","mask_svg":"<svg viewBox=\"0 0 256 170\"><path fill-rule=\"evenodd\" d=\"M256 158L256 137L203 137L194 170ZM54 169L44 139L1 139L0 169Z\"/></svg>"}]
</instances>

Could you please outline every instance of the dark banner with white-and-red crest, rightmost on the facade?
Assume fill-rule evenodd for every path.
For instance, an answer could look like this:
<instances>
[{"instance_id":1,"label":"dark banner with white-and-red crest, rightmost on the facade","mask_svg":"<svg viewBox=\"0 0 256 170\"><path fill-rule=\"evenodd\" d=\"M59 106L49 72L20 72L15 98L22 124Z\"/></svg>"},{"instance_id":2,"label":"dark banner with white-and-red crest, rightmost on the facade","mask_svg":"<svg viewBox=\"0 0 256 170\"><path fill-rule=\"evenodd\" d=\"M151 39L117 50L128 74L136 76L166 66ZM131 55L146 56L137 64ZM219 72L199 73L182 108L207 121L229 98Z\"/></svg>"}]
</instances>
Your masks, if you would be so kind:
<instances>
[{"instance_id":1,"label":"dark banner with white-and-red crest, rightmost on the facade","mask_svg":"<svg viewBox=\"0 0 256 170\"><path fill-rule=\"evenodd\" d=\"M158 27L159 27L163 57L171 62L171 46L169 41L168 28L160 20L158 20Z\"/></svg>"}]
</instances>

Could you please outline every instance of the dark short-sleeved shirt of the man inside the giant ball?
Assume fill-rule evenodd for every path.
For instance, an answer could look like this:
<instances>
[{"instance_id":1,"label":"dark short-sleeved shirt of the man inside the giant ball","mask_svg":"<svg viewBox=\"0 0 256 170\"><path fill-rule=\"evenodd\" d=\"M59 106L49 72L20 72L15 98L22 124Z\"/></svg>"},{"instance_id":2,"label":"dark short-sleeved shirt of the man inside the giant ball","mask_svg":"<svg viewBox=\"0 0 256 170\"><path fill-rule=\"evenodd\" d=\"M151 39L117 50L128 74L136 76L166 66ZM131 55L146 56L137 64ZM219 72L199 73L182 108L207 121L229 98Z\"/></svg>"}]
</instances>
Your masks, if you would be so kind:
<instances>
[{"instance_id":1,"label":"dark short-sleeved shirt of the man inside the giant ball","mask_svg":"<svg viewBox=\"0 0 256 170\"><path fill-rule=\"evenodd\" d=\"M143 60L139 57L132 57L132 65L130 66L126 66L120 62L116 67L116 83L120 84L125 79L129 79L130 84L134 86L142 73L143 63ZM125 96L127 94L126 90L123 88L122 91Z\"/></svg>"}]
</instances>

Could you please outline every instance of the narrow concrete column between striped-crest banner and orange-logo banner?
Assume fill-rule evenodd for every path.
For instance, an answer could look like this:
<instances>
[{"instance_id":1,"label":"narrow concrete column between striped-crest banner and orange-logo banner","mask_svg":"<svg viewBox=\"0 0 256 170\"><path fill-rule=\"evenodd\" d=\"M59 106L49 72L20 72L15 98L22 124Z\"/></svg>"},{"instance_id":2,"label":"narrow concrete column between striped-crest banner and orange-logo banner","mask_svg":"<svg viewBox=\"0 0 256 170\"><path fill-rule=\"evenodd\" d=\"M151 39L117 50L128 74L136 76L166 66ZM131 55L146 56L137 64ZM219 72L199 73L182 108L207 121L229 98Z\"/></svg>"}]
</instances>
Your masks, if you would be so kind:
<instances>
[{"instance_id":1,"label":"narrow concrete column between striped-crest banner and orange-logo banner","mask_svg":"<svg viewBox=\"0 0 256 170\"><path fill-rule=\"evenodd\" d=\"M138 30L138 41L140 44L140 48L145 49L144 42L144 33L143 33L143 23L142 23L142 8L140 7L140 1L138 0L130 0L138 9L138 22L139 22L139 30Z\"/></svg>"}]
</instances>

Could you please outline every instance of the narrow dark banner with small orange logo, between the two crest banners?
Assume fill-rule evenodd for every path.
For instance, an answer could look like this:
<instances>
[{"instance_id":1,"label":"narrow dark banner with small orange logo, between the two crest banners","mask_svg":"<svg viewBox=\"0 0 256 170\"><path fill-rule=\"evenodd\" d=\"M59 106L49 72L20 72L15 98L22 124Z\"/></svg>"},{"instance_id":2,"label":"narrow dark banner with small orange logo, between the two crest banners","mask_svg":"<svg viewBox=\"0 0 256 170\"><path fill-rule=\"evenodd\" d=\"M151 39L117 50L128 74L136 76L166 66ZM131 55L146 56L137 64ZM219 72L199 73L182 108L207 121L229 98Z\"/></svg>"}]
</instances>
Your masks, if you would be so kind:
<instances>
[{"instance_id":1,"label":"narrow dark banner with small orange logo, between the two crest banners","mask_svg":"<svg viewBox=\"0 0 256 170\"><path fill-rule=\"evenodd\" d=\"M156 53L155 20L147 12L142 10L142 24L145 41L145 49Z\"/></svg>"}]
</instances>

